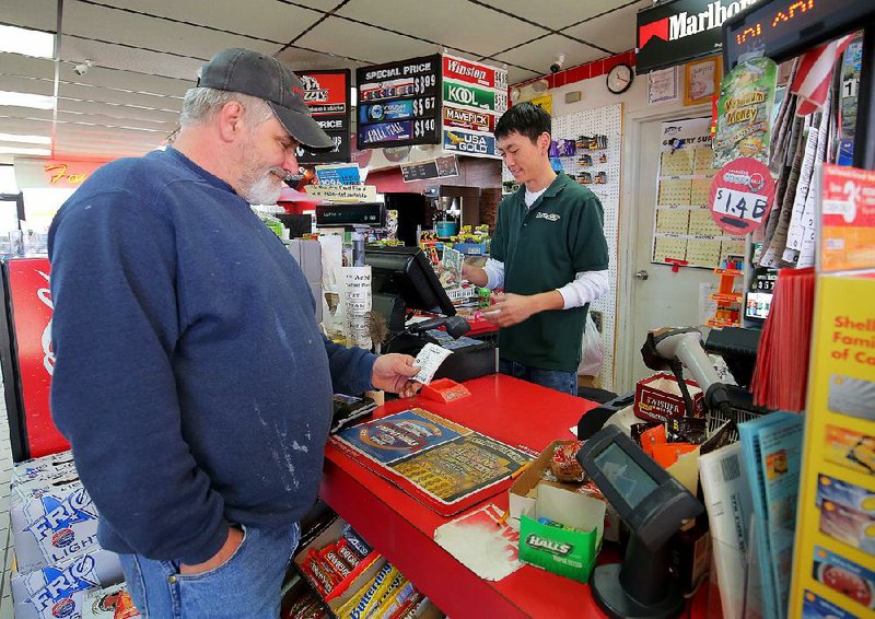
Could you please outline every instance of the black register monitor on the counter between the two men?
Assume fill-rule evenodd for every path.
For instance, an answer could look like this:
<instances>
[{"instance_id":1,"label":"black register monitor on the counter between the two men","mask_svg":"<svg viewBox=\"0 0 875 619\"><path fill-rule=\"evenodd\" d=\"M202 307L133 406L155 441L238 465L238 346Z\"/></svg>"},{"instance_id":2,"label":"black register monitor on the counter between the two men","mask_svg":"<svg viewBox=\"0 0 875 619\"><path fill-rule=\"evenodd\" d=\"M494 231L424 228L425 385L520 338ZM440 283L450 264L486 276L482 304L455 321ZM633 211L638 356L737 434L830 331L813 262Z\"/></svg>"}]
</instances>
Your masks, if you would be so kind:
<instances>
[{"instance_id":1,"label":"black register monitor on the counter between the two men","mask_svg":"<svg viewBox=\"0 0 875 619\"><path fill-rule=\"evenodd\" d=\"M410 310L454 316L456 308L419 247L378 247L364 252L375 294L400 296Z\"/></svg>"}]
</instances>

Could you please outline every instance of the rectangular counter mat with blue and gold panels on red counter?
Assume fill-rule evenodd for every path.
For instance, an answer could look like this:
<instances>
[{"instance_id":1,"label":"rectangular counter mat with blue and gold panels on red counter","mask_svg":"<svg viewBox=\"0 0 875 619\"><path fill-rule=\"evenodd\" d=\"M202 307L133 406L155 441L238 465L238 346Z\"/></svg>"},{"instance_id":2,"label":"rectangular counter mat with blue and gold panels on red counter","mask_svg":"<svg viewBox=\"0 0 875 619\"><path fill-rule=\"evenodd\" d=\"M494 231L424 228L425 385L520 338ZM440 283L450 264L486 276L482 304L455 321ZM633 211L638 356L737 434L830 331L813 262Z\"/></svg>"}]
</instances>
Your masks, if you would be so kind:
<instances>
[{"instance_id":1,"label":"rectangular counter mat with blue and gold panels on red counter","mask_svg":"<svg viewBox=\"0 0 875 619\"><path fill-rule=\"evenodd\" d=\"M343 429L329 443L443 516L495 494L532 459L420 408Z\"/></svg>"}]
</instances>

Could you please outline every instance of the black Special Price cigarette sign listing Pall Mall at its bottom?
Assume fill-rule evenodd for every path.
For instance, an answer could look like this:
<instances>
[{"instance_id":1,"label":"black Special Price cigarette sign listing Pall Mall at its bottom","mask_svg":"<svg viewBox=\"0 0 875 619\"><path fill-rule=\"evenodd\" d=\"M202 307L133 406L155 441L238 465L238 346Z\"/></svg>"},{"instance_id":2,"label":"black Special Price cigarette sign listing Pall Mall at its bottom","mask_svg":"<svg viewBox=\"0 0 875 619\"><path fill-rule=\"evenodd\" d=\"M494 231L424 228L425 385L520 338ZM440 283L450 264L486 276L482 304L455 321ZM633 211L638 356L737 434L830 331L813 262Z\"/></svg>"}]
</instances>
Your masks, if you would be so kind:
<instances>
[{"instance_id":1,"label":"black Special Price cigarette sign listing Pall Mall at its bottom","mask_svg":"<svg viewBox=\"0 0 875 619\"><path fill-rule=\"evenodd\" d=\"M357 69L360 149L436 144L441 56Z\"/></svg>"}]
</instances>

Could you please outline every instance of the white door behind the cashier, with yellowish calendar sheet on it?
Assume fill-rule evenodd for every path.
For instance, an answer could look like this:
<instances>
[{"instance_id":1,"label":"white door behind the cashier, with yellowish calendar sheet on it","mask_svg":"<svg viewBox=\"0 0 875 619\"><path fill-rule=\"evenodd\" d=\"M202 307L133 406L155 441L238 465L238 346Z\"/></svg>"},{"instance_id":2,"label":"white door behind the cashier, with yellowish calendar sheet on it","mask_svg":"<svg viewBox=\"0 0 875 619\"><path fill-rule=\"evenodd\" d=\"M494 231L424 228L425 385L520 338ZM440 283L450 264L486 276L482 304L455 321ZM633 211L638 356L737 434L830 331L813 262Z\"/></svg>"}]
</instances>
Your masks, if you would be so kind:
<instances>
[{"instance_id":1,"label":"white door behind the cashier, with yellowish calendar sheet on it","mask_svg":"<svg viewBox=\"0 0 875 619\"><path fill-rule=\"evenodd\" d=\"M700 325L699 287L718 282L718 276L707 269L681 267L674 272L668 265L651 262L661 128L665 120L692 117L689 112L680 114L675 118L640 121L630 136L631 156L637 159L632 170L637 172L627 192L627 203L632 207L629 223L634 233L629 238L632 247L627 253L628 262L621 276L629 279L626 285L629 311L620 310L621 319L625 316L630 328L619 330L626 334L626 343L618 362L625 363L626 367L619 372L621 381L618 393L632 390L635 382L654 373L641 358L641 346L646 340L648 331L660 327Z\"/></svg>"}]
</instances>

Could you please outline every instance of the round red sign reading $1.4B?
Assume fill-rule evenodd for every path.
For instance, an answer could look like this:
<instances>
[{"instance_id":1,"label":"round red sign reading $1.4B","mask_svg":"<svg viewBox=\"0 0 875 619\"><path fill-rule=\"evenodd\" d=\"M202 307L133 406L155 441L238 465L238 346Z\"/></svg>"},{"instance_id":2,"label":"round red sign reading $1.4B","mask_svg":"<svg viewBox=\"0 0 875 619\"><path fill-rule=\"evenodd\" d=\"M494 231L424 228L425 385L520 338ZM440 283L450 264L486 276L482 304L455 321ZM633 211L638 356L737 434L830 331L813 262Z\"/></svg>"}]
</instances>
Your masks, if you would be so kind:
<instances>
[{"instance_id":1,"label":"round red sign reading $1.4B","mask_svg":"<svg viewBox=\"0 0 875 619\"><path fill-rule=\"evenodd\" d=\"M769 168L750 157L731 161L711 183L711 217L721 230L735 236L756 231L774 201Z\"/></svg>"}]
</instances>

